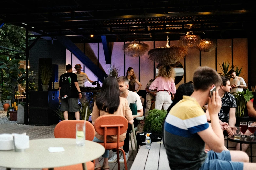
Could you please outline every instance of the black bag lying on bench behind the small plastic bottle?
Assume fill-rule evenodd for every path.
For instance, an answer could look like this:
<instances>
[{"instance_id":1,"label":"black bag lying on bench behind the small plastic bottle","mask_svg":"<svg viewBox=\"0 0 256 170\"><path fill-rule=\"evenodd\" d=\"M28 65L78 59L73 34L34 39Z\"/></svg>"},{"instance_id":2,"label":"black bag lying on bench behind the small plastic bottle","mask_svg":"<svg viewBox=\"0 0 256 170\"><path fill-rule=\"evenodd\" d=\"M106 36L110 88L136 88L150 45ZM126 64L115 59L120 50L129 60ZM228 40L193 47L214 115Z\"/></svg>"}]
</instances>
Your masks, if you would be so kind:
<instances>
[{"instance_id":1,"label":"black bag lying on bench behind the small plastic bottle","mask_svg":"<svg viewBox=\"0 0 256 170\"><path fill-rule=\"evenodd\" d=\"M159 142L162 140L162 136L152 133L151 131L146 131L146 132L141 132L136 134L136 140L137 140L137 145L145 145L146 144L146 135L147 133L149 134L149 137L151 138L151 142Z\"/></svg>"}]
</instances>

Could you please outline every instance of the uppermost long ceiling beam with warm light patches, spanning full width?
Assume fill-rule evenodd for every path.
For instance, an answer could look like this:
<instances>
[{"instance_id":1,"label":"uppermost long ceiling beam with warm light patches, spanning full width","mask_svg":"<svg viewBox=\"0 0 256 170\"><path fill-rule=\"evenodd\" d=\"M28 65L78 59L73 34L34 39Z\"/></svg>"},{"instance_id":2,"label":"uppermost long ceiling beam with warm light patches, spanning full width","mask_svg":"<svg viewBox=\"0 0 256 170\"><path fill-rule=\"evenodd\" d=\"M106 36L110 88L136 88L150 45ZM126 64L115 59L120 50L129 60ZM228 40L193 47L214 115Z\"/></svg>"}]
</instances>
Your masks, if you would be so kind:
<instances>
[{"instance_id":1,"label":"uppermost long ceiling beam with warm light patches, spanning full width","mask_svg":"<svg viewBox=\"0 0 256 170\"><path fill-rule=\"evenodd\" d=\"M149 17L173 17L173 16L198 16L198 15L237 15L237 14L248 14L253 13L253 10L235 10L235 11L213 11L213 12L174 12L174 13L163 13L163 14L144 14L144 15L116 15L116 16L107 16L102 15L98 17L68 17L68 18L49 18L49 19L26 19L26 17L23 17L22 19L1 19L4 20L5 23L38 23L38 22L71 22L71 21L97 21L97 20L113 20L113 19L129 19L129 18L149 18Z\"/></svg>"}]
</instances>

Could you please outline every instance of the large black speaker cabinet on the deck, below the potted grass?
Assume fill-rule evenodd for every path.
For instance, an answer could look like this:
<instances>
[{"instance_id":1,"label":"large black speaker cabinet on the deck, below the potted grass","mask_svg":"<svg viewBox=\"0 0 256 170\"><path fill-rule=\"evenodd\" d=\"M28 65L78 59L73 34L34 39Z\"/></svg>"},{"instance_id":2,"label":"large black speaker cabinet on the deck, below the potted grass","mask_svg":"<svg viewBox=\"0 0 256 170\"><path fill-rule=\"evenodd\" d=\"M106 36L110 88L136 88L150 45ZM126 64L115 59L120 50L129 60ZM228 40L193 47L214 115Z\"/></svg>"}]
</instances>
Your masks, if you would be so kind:
<instances>
[{"instance_id":1,"label":"large black speaker cabinet on the deck, below the potted grass","mask_svg":"<svg viewBox=\"0 0 256 170\"><path fill-rule=\"evenodd\" d=\"M59 109L59 91L29 92L29 125L49 126L58 123L54 110Z\"/></svg>"}]
</instances>

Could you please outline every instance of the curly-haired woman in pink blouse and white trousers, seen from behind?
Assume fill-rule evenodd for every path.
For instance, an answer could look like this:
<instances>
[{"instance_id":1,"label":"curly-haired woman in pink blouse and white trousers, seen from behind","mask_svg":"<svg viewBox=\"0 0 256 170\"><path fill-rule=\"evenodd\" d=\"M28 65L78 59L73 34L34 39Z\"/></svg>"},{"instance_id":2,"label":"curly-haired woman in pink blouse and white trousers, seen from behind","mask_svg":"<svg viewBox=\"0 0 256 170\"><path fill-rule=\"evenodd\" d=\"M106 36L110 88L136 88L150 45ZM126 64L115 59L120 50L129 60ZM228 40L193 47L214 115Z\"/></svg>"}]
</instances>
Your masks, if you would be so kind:
<instances>
[{"instance_id":1,"label":"curly-haired woman in pink blouse and white trousers, seen from behind","mask_svg":"<svg viewBox=\"0 0 256 170\"><path fill-rule=\"evenodd\" d=\"M156 103L155 109L161 110L162 106L164 110L167 110L172 103L172 94L176 93L175 87L175 71L173 67L162 66L159 69L158 77L152 82L149 89L156 90Z\"/></svg>"}]
</instances>

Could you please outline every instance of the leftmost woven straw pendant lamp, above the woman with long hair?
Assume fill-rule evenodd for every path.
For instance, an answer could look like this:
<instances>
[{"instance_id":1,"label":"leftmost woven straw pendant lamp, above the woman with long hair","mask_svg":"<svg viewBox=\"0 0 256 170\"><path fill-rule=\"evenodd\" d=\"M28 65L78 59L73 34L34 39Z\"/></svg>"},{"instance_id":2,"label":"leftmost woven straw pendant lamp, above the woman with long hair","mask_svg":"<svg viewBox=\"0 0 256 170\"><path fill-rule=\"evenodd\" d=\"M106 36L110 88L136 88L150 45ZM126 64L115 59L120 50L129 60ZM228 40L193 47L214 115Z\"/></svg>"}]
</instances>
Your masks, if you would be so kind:
<instances>
[{"instance_id":1,"label":"leftmost woven straw pendant lamp, above the woman with long hair","mask_svg":"<svg viewBox=\"0 0 256 170\"><path fill-rule=\"evenodd\" d=\"M139 57L148 51L149 45L143 42L133 41L124 44L122 49L129 57Z\"/></svg>"}]
</instances>

